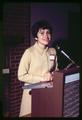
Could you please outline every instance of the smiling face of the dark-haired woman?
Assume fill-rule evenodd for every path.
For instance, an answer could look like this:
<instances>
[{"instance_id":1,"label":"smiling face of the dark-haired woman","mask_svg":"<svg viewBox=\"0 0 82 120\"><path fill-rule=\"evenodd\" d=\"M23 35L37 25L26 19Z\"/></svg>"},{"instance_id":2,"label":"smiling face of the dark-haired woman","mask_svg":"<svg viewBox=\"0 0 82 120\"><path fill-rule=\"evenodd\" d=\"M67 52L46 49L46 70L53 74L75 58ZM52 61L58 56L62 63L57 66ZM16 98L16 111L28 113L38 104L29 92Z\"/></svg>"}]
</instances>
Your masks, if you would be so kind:
<instances>
[{"instance_id":1,"label":"smiling face of the dark-haired woman","mask_svg":"<svg viewBox=\"0 0 82 120\"><path fill-rule=\"evenodd\" d=\"M48 45L48 43L51 41L50 30L40 28L37 33L37 40L43 45Z\"/></svg>"}]
</instances>

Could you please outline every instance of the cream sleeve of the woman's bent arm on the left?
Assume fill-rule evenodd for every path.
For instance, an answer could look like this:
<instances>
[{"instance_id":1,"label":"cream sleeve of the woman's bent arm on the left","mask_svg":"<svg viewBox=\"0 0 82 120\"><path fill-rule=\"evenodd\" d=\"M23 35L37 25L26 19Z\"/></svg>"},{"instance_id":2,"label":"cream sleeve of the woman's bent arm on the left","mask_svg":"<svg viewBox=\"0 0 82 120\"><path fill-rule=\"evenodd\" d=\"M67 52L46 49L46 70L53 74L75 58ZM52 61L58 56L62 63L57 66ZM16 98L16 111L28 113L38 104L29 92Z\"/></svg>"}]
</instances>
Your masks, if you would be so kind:
<instances>
[{"instance_id":1,"label":"cream sleeve of the woman's bent arm on the left","mask_svg":"<svg viewBox=\"0 0 82 120\"><path fill-rule=\"evenodd\" d=\"M31 55L30 55L30 51L27 49L24 52L19 63L18 80L28 84L42 81L43 79L42 76L32 75L28 73L30 62L31 62Z\"/></svg>"}]
</instances>

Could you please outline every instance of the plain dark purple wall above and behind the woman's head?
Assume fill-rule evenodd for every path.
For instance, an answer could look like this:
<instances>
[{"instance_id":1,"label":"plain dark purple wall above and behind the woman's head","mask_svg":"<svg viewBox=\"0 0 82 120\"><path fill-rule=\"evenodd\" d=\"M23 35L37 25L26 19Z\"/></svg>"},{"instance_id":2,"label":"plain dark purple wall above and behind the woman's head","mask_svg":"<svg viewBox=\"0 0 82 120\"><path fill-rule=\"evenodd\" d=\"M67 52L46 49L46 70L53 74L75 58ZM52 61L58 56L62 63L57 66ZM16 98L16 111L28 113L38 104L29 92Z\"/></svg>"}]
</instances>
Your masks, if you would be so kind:
<instances>
[{"instance_id":1,"label":"plain dark purple wall above and behind the woman's head","mask_svg":"<svg viewBox=\"0 0 82 120\"><path fill-rule=\"evenodd\" d=\"M78 3L31 3L31 24L40 19L48 20L54 29L54 39L67 39L69 12L80 13Z\"/></svg>"}]
</instances>

